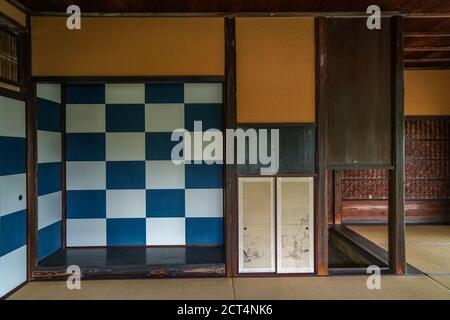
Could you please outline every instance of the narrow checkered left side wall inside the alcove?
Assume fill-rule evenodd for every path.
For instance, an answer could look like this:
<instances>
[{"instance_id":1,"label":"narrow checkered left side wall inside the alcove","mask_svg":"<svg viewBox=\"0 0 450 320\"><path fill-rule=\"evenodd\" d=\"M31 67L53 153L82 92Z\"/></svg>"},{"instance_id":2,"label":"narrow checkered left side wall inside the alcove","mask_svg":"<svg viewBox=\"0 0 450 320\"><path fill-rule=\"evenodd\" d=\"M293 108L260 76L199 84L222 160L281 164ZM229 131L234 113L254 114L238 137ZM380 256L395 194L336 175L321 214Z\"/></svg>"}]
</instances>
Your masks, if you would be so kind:
<instances>
[{"instance_id":1,"label":"narrow checkered left side wall inside the alcove","mask_svg":"<svg viewBox=\"0 0 450 320\"><path fill-rule=\"evenodd\" d=\"M37 85L38 259L61 248L61 86Z\"/></svg>"}]
</instances>

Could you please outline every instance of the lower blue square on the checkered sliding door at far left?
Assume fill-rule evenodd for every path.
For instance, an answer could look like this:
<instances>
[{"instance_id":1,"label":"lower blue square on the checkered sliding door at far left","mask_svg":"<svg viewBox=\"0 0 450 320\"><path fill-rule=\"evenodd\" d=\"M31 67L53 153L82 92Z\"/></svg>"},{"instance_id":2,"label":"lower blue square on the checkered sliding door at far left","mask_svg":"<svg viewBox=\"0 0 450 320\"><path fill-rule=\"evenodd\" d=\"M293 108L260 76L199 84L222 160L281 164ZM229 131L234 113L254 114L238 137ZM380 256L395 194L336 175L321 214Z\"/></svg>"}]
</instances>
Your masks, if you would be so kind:
<instances>
[{"instance_id":1,"label":"lower blue square on the checkered sliding door at far left","mask_svg":"<svg viewBox=\"0 0 450 320\"><path fill-rule=\"evenodd\" d=\"M0 217L0 257L24 246L27 239L26 211Z\"/></svg>"}]
</instances>

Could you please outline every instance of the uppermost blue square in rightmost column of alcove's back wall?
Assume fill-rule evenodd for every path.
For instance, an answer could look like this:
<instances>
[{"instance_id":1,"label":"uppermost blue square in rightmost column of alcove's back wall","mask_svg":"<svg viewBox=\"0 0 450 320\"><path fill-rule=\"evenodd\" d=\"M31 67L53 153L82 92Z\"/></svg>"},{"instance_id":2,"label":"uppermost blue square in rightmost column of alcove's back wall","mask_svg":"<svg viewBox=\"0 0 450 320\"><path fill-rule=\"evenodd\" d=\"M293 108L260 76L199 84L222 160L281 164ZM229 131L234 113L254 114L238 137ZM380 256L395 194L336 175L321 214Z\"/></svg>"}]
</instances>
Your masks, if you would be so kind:
<instances>
[{"instance_id":1,"label":"uppermost blue square in rightmost column of alcove's back wall","mask_svg":"<svg viewBox=\"0 0 450 320\"><path fill-rule=\"evenodd\" d=\"M194 121L202 122L202 131L223 128L222 105L214 103L186 104L184 106L184 127L194 131Z\"/></svg>"}]
</instances>

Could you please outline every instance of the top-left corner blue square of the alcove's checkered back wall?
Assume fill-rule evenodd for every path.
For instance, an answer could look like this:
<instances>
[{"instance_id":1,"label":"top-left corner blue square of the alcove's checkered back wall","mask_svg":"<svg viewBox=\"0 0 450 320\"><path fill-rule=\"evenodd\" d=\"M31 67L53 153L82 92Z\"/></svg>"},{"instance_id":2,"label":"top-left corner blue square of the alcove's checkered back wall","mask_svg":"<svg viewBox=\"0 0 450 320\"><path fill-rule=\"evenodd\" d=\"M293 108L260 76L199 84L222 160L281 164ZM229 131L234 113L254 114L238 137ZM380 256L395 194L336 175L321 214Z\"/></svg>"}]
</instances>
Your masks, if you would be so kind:
<instances>
[{"instance_id":1,"label":"top-left corner blue square of the alcove's checkered back wall","mask_svg":"<svg viewBox=\"0 0 450 320\"><path fill-rule=\"evenodd\" d=\"M69 84L66 86L68 104L104 104L104 84Z\"/></svg>"}]
</instances>

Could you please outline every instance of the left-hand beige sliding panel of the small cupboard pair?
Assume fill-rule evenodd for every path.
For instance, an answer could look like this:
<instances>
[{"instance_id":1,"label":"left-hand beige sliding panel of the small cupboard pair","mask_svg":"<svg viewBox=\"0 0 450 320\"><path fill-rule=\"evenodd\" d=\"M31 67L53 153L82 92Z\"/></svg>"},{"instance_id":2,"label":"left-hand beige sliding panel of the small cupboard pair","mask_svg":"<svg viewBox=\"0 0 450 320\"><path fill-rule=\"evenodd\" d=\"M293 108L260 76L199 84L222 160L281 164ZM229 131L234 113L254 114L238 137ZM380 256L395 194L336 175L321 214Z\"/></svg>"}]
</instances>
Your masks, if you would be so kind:
<instances>
[{"instance_id":1,"label":"left-hand beige sliding panel of the small cupboard pair","mask_svg":"<svg viewBox=\"0 0 450 320\"><path fill-rule=\"evenodd\" d=\"M239 272L275 272L274 178L239 178Z\"/></svg>"}]
</instances>

